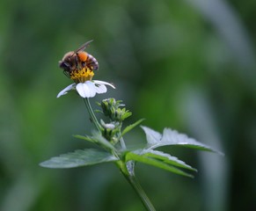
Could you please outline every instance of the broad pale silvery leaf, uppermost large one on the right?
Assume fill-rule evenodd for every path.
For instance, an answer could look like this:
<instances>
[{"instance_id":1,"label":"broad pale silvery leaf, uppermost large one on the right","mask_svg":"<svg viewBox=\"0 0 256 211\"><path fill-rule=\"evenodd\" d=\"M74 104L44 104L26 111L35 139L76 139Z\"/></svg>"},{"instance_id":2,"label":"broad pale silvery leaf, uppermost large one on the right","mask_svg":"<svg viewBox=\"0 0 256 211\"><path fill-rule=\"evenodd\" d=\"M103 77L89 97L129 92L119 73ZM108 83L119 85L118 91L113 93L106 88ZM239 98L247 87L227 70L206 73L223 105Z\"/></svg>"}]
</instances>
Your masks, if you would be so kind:
<instances>
[{"instance_id":1,"label":"broad pale silvery leaf, uppermost large one on the right","mask_svg":"<svg viewBox=\"0 0 256 211\"><path fill-rule=\"evenodd\" d=\"M165 128L163 135L159 134L155 130L150 129L149 127L143 127L143 130L147 137L149 149L155 149L157 147L168 145L179 145L187 148L212 151L223 155L222 152L216 149L212 149L206 144L197 142L193 138L187 137L187 135L179 134L176 130L172 130L171 128Z\"/></svg>"}]
</instances>

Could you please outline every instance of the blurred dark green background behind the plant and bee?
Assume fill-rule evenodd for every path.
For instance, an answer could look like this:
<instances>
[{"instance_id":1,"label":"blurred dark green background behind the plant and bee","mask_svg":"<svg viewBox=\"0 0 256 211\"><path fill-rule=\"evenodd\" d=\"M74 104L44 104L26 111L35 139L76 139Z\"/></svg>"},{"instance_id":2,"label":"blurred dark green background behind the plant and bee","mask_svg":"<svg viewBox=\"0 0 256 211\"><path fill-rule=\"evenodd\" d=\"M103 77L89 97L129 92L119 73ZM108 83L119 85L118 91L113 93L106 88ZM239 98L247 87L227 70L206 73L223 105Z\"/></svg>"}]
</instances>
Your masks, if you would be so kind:
<instances>
[{"instance_id":1,"label":"blurred dark green background behind the plant and bee","mask_svg":"<svg viewBox=\"0 0 256 211\"><path fill-rule=\"evenodd\" d=\"M85 41L112 82L91 100L122 99L161 132L172 127L225 156L163 148L195 178L138 164L157 210L256 210L256 1L0 2L0 210L143 210L113 164L50 170L41 161L91 145L83 101L56 95L71 83L58 68ZM138 127L126 136L145 142Z\"/></svg>"}]
</instances>

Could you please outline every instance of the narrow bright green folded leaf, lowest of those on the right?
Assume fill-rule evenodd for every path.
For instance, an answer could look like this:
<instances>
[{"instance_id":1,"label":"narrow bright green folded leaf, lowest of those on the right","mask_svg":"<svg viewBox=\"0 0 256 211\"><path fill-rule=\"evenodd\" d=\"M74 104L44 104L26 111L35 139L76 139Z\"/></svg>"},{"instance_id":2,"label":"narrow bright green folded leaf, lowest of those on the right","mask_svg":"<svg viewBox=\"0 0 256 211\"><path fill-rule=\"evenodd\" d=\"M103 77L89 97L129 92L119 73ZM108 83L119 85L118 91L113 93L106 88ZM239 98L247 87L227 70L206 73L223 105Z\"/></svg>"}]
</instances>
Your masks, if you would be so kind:
<instances>
[{"instance_id":1,"label":"narrow bright green folded leaf, lowest of those on the right","mask_svg":"<svg viewBox=\"0 0 256 211\"><path fill-rule=\"evenodd\" d=\"M126 154L125 158L126 158L127 162L128 161L136 161L136 162L141 162L143 164L150 164L150 165L153 165L157 168L160 168L160 169L163 169L163 170L166 170L166 171L171 171L172 173L176 173L176 174L179 174L179 175L182 175L182 176L193 178L193 175L188 174L185 171L181 171L178 168L176 168L176 167L174 167L170 164L166 164L165 162L157 160L157 159L152 158L150 156L138 155L135 152L128 152Z\"/></svg>"}]
</instances>

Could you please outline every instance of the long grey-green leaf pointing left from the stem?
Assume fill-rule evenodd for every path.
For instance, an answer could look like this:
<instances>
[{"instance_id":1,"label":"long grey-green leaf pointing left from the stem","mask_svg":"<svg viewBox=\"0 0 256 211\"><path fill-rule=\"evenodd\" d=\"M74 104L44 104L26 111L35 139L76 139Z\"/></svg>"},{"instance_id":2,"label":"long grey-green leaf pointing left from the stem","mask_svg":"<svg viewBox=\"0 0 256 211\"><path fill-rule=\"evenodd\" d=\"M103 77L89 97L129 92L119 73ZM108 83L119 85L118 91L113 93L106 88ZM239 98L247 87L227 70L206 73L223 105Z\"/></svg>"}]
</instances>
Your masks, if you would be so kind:
<instances>
[{"instance_id":1,"label":"long grey-green leaf pointing left from the stem","mask_svg":"<svg viewBox=\"0 0 256 211\"><path fill-rule=\"evenodd\" d=\"M99 149L78 149L75 152L52 157L40 163L40 166L53 169L67 169L117 160L117 157Z\"/></svg>"}]
</instances>

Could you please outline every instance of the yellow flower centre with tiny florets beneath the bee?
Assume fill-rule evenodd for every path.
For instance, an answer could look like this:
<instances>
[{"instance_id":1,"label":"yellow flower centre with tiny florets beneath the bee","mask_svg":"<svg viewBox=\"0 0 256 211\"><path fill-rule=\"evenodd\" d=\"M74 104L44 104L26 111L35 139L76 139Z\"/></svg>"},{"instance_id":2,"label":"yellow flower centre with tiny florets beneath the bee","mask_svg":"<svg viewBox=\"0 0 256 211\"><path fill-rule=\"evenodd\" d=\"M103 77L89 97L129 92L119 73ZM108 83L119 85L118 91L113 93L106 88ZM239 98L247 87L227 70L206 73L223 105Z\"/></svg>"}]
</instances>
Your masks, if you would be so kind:
<instances>
[{"instance_id":1,"label":"yellow flower centre with tiny florets beneath the bee","mask_svg":"<svg viewBox=\"0 0 256 211\"><path fill-rule=\"evenodd\" d=\"M70 73L70 79L77 84L91 81L92 76L94 76L94 72L86 67L83 69L76 69Z\"/></svg>"}]
</instances>

